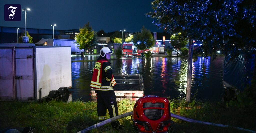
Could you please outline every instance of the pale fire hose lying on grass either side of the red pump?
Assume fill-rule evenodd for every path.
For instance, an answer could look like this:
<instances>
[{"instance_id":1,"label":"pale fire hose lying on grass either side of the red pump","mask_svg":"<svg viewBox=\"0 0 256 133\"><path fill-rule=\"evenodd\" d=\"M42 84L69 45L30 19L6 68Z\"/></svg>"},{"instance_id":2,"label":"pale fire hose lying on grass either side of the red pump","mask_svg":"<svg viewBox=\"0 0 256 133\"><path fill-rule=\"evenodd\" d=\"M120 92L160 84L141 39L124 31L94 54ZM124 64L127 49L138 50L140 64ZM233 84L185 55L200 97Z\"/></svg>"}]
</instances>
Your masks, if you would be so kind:
<instances>
[{"instance_id":1,"label":"pale fire hose lying on grass either side of the red pump","mask_svg":"<svg viewBox=\"0 0 256 133\"><path fill-rule=\"evenodd\" d=\"M127 116L131 116L132 113L133 113L133 112L128 112L128 113L125 113L125 114L121 114L121 115L118 115L118 116L115 116L115 117L106 119L106 120L103 121L103 122L99 122L99 123L97 123L97 124L94 124L94 125L92 125L92 126L86 128L86 129L83 129L83 130L77 132L77 133L88 132L88 131L90 131L90 130L92 130L92 129L101 127L101 126L103 126L103 125L105 125L105 124L108 124L108 123L110 123L110 122L116 121L116 120L118 120L118 119L121 119L121 118L124 118L124 117L127 117ZM213 126L219 126L219 127L232 127L232 128L239 129L239 130L243 130L243 131L248 131L248 132L256 133L256 131L253 131L253 130L250 130L250 129L245 129L245 128L241 128L241 127L235 127L235 126L229 126L229 125L223 125L223 124L217 124L217 123L210 123L210 122L198 121L198 120L186 118L186 117L179 116L179 115L172 114L172 113L171 113L171 117L177 118L177 119L180 119L180 120L183 120L183 121L186 121L186 122L200 123L200 124L213 125Z\"/></svg>"}]
</instances>

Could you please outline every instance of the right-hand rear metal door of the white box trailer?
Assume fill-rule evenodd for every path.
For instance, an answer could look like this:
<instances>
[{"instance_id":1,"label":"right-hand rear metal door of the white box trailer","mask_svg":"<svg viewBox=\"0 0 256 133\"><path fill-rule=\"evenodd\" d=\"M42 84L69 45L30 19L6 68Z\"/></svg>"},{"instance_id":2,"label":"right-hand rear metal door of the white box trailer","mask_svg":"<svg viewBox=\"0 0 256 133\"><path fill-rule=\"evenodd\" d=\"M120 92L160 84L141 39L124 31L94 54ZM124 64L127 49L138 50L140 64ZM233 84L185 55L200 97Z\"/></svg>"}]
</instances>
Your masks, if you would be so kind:
<instances>
[{"instance_id":1,"label":"right-hand rear metal door of the white box trailer","mask_svg":"<svg viewBox=\"0 0 256 133\"><path fill-rule=\"evenodd\" d=\"M16 99L18 101L35 100L33 48L17 48L15 64Z\"/></svg>"}]
</instances>

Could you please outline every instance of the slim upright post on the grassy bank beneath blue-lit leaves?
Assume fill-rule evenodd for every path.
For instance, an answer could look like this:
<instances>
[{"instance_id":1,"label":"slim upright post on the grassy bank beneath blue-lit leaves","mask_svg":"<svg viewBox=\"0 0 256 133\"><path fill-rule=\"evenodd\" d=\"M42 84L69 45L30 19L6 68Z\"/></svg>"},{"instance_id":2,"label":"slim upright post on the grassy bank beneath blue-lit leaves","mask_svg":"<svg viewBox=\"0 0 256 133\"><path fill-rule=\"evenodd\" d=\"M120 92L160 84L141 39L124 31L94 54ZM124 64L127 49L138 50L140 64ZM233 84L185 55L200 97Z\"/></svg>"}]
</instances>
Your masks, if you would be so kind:
<instances>
[{"instance_id":1,"label":"slim upright post on the grassy bank beneath blue-lit leaves","mask_svg":"<svg viewBox=\"0 0 256 133\"><path fill-rule=\"evenodd\" d=\"M186 103L190 103L192 64L193 64L193 39L190 38L189 49L188 49L188 76L187 76L187 89L186 89Z\"/></svg>"}]
</instances>

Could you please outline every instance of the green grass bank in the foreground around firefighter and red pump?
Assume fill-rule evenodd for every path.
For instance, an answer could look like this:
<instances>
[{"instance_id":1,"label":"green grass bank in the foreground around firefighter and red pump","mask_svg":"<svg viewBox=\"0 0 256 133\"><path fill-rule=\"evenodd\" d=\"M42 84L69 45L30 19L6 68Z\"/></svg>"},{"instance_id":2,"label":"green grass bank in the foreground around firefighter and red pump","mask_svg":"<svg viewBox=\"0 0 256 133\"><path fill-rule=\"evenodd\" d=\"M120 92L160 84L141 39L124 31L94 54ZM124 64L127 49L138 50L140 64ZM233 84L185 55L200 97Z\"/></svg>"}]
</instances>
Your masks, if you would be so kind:
<instances>
[{"instance_id":1,"label":"green grass bank in the foreground around firefighter and red pump","mask_svg":"<svg viewBox=\"0 0 256 133\"><path fill-rule=\"evenodd\" d=\"M134 101L118 102L119 114L132 111ZM97 103L73 101L64 102L0 102L0 129L5 127L36 127L37 132L77 132L98 122ZM238 126L256 130L255 107L225 108L225 103L193 101L186 104L184 99L170 101L171 112L184 117ZM172 118L175 122L169 132L244 132L233 128L193 124ZM107 124L91 132L135 132L131 116L120 120L122 131Z\"/></svg>"}]
</instances>

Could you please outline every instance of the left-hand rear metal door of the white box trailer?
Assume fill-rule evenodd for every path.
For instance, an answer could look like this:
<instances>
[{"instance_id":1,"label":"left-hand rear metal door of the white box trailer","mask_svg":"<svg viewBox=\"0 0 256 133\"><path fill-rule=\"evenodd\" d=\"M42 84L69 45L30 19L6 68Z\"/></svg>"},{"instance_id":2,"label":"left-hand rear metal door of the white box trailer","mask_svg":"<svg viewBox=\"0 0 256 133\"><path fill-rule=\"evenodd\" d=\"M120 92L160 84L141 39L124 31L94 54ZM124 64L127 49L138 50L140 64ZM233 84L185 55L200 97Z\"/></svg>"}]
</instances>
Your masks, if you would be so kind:
<instances>
[{"instance_id":1,"label":"left-hand rear metal door of the white box trailer","mask_svg":"<svg viewBox=\"0 0 256 133\"><path fill-rule=\"evenodd\" d=\"M0 48L0 101L14 101L14 51Z\"/></svg>"}]
</instances>

